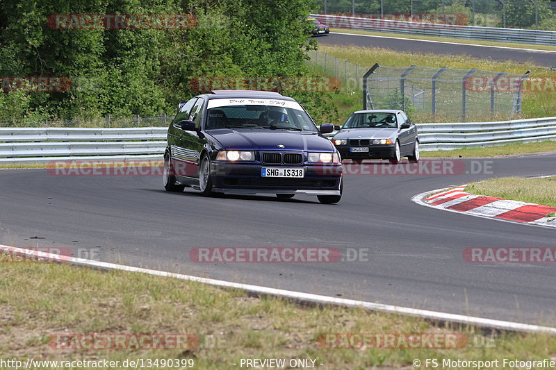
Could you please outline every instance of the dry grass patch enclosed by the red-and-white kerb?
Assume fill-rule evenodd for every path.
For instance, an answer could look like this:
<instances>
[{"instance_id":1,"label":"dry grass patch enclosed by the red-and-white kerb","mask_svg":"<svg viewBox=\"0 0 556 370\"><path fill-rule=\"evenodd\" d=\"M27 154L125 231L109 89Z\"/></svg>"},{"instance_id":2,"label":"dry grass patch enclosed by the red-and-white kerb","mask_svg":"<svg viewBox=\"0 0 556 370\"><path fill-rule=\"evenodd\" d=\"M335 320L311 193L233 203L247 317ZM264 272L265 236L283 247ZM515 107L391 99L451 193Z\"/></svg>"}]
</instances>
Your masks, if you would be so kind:
<instances>
[{"instance_id":1,"label":"dry grass patch enclosed by the red-and-white kerb","mask_svg":"<svg viewBox=\"0 0 556 370\"><path fill-rule=\"evenodd\" d=\"M468 185L466 192L556 207L556 176L548 178L500 177Z\"/></svg>"}]
</instances>

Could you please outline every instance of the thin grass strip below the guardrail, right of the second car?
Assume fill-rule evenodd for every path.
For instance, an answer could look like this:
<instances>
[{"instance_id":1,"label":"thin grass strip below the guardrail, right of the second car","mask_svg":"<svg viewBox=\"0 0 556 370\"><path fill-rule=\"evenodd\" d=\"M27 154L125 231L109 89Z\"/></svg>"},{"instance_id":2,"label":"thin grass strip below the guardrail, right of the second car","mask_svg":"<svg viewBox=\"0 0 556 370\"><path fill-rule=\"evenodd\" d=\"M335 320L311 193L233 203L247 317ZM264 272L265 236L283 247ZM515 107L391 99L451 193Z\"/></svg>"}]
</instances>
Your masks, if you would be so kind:
<instances>
[{"instance_id":1,"label":"thin grass strip below the guardrail, right of the second car","mask_svg":"<svg viewBox=\"0 0 556 370\"><path fill-rule=\"evenodd\" d=\"M425 158L470 158L470 157L498 157L503 155L523 155L556 151L556 142L532 142L526 144L507 144L489 146L485 148L457 149L454 151L423 151Z\"/></svg>"}]
</instances>

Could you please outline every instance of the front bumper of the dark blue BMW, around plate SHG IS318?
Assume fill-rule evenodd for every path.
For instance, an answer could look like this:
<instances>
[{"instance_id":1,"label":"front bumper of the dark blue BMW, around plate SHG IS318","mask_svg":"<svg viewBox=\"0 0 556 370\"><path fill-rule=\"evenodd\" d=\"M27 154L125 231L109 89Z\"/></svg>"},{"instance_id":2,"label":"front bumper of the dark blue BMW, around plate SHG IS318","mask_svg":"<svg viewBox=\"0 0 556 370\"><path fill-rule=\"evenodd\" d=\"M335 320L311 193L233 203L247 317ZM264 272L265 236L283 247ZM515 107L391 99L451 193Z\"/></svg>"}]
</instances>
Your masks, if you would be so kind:
<instances>
[{"instance_id":1,"label":"front bumper of the dark blue BMW, around plate SHG IS318","mask_svg":"<svg viewBox=\"0 0 556 370\"><path fill-rule=\"evenodd\" d=\"M263 167L303 168L303 178L262 177ZM263 165L212 162L213 190L232 194L340 195L343 167L336 165Z\"/></svg>"}]
</instances>

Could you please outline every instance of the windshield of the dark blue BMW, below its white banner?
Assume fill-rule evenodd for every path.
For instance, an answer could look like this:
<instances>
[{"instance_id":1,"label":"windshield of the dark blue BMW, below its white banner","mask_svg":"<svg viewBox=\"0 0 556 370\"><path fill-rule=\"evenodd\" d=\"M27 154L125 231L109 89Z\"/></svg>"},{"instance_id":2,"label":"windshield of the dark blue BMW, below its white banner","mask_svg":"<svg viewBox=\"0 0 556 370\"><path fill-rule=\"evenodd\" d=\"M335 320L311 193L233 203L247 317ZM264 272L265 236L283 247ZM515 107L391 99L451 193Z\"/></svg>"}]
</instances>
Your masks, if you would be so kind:
<instances>
[{"instance_id":1,"label":"windshield of the dark blue BMW, below its white banner","mask_svg":"<svg viewBox=\"0 0 556 370\"><path fill-rule=\"evenodd\" d=\"M257 128L317 132L304 110L265 105L219 106L208 109L206 130Z\"/></svg>"}]
</instances>

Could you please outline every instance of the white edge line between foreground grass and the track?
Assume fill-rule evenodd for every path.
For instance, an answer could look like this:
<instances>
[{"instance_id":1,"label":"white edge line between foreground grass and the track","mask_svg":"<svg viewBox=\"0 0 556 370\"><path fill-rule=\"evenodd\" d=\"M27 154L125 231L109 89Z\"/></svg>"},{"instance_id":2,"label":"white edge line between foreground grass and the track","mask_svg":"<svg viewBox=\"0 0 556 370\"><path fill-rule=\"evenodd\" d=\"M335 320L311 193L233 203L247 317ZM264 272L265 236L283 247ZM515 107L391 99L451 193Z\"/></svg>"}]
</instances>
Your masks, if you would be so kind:
<instances>
[{"instance_id":1,"label":"white edge line between foreground grass and the track","mask_svg":"<svg viewBox=\"0 0 556 370\"><path fill-rule=\"evenodd\" d=\"M34 255L37 252L29 250L29 249L22 249L17 248L14 246L5 246L0 244L0 250L4 251L13 251L17 253L24 253L26 255ZM58 258L58 256L51 254L51 253L42 253L41 255L48 257L48 258ZM102 269L114 269L114 270L121 270L121 271L129 271L129 272L139 272L142 274L149 274L154 276L162 276L166 278L178 278L181 280L189 280L189 281L196 281L199 283L205 283L208 285L214 285L217 287L227 287L227 288L234 288L234 289L243 289L248 292L254 292L259 294L270 294L272 296L282 296L286 298L292 298L296 301L306 301L309 303L324 303L329 305L344 305L347 307L359 307L359 308L366 308L372 311L380 311L380 312L387 312L393 314L408 314L410 316L415 317L423 317L425 319L433 319L439 321L451 321L455 323L464 323L470 324L474 326L486 327L486 328L496 328L500 330L514 330L514 331L521 331L521 332L530 332L530 333L548 333L556 335L556 328L552 328L550 326L538 326L529 323L516 323L513 321L502 321L496 319L486 319L482 317L473 317L473 316L465 316L461 314L450 314L447 312L437 312L437 311L430 311L430 310L420 310L417 308L407 308L401 307L396 305L386 305L383 303L373 303L373 302L366 302L366 301L357 301L354 299L347 299L347 298L335 298L330 296L322 296L319 294L311 294L311 293L303 293L303 292L294 292L291 290L285 289L276 289L271 287L262 287L259 285L248 285L242 283L232 283L229 281L224 280L215 280L210 278L199 278L198 276L190 276L190 275L183 275L183 274L176 274L166 271L159 271L159 270L152 270L152 269L144 269L141 267L132 267L126 266L124 264L114 264L109 262L99 262L94 260L85 260L82 258L67 258L67 262L71 262L72 264L79 264L83 266L90 266L90 267L99 267Z\"/></svg>"}]
</instances>

